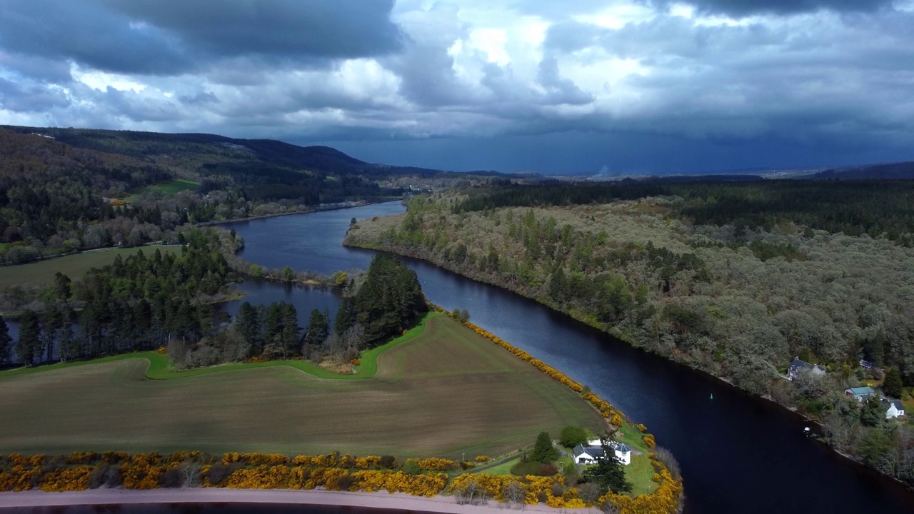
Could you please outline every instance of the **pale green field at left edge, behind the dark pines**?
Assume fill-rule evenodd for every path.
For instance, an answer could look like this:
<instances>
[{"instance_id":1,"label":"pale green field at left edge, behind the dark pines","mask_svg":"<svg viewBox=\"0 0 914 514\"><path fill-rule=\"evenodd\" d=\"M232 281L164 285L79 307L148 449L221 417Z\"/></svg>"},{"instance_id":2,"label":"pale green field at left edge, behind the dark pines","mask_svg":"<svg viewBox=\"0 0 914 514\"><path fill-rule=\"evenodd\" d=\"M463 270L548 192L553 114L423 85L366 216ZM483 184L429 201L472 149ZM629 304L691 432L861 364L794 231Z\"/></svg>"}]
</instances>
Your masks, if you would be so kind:
<instances>
[{"instance_id":1,"label":"pale green field at left edge, behind the dark pines","mask_svg":"<svg viewBox=\"0 0 914 514\"><path fill-rule=\"evenodd\" d=\"M111 248L96 252L78 253L67 255L47 261L30 262L16 266L0 268L0 290L11 285L48 285L54 282L54 273L64 273L71 279L80 278L90 268L99 268L114 262L114 257L120 255L125 258L141 249L147 256L151 256L155 249L162 252L180 252L177 246L143 246L139 248Z\"/></svg>"}]
</instances>

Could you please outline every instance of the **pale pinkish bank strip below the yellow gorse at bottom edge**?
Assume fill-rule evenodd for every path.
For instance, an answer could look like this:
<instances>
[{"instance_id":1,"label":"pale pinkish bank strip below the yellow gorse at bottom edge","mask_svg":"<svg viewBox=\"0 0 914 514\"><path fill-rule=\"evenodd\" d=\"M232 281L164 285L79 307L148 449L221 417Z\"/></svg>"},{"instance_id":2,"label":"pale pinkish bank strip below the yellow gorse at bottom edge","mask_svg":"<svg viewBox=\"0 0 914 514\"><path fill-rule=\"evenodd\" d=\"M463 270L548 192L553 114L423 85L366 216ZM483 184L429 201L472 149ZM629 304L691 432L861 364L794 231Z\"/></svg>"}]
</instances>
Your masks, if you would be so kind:
<instances>
[{"instance_id":1,"label":"pale pinkish bank strip below the yellow gorse at bottom edge","mask_svg":"<svg viewBox=\"0 0 914 514\"><path fill-rule=\"evenodd\" d=\"M253 503L310 505L344 508L396 509L412 512L494 513L505 509L520 509L520 506L491 500L485 505L458 505L456 498L434 496L431 498L410 496L406 493L387 492L339 492L323 489L226 489L215 487L132 490L120 488L99 488L87 491L51 493L45 491L22 491L0 493L0 512L4 509L30 509L41 507L68 506L112 506L136 504L169 503ZM526 512L565 512L546 505L526 505ZM600 512L600 509L575 509L585 514Z\"/></svg>"}]
</instances>

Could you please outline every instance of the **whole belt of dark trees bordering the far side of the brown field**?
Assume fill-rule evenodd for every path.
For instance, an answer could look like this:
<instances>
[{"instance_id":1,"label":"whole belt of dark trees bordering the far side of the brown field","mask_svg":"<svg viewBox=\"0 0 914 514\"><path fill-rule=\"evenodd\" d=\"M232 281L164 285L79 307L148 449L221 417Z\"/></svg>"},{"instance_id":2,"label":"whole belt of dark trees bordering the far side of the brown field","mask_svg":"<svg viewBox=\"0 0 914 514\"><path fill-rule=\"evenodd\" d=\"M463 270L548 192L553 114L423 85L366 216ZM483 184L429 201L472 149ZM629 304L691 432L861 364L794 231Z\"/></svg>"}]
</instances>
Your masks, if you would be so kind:
<instances>
[{"instance_id":1,"label":"whole belt of dark trees bordering the far side of the brown field","mask_svg":"<svg viewBox=\"0 0 914 514\"><path fill-rule=\"evenodd\" d=\"M428 312L416 273L399 258L377 255L367 273L349 279L335 319L314 310L301 327L284 302L245 302L234 319L216 304L237 294L226 255L229 232L189 230L178 256L142 251L80 280L58 273L19 318L19 338L0 317L0 365L91 359L162 348L178 368L270 359L356 359L361 350L399 336ZM55 349L57 351L55 351Z\"/></svg>"}]
</instances>

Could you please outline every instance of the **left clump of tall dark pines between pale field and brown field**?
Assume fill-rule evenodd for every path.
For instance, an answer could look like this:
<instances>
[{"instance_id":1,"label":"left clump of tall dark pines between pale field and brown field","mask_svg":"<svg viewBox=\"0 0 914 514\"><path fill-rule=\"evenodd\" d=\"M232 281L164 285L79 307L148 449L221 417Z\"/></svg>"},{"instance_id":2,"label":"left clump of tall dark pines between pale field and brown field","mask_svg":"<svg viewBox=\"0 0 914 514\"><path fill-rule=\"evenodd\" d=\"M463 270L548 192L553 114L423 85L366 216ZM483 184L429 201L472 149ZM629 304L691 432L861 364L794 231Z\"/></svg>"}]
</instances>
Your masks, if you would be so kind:
<instances>
[{"instance_id":1,"label":"left clump of tall dark pines between pale field and brown field","mask_svg":"<svg viewBox=\"0 0 914 514\"><path fill-rule=\"evenodd\" d=\"M212 303L234 294L235 273L223 256L234 249L217 230L185 237L180 255L117 256L75 281L58 273L20 316L17 361L88 359L212 335L220 323ZM0 355L8 358L8 349Z\"/></svg>"}]
</instances>

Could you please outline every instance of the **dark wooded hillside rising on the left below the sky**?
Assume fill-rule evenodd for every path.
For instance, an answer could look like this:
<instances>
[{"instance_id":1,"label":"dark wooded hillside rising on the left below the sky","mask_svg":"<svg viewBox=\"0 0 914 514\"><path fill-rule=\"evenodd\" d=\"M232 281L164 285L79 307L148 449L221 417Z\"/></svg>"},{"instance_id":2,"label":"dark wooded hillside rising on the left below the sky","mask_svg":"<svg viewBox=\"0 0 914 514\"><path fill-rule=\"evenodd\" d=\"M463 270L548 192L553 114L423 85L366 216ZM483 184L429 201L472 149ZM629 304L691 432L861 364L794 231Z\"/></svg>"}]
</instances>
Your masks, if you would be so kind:
<instances>
[{"instance_id":1,"label":"dark wooded hillside rising on the left below the sky","mask_svg":"<svg viewBox=\"0 0 914 514\"><path fill-rule=\"evenodd\" d=\"M174 242L186 223L399 198L466 178L265 139L0 126L0 262Z\"/></svg>"}]
</instances>

